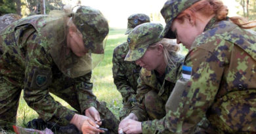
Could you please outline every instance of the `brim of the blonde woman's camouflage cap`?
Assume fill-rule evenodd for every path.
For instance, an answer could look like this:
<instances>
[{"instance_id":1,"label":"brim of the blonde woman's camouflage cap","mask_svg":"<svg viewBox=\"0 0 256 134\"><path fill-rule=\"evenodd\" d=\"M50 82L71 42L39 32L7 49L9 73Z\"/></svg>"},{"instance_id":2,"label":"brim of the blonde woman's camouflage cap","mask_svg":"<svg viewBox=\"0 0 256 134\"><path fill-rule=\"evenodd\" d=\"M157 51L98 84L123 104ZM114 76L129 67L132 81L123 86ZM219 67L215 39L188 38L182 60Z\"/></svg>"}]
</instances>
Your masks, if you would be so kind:
<instances>
[{"instance_id":1,"label":"brim of the blonde woman's camouflage cap","mask_svg":"<svg viewBox=\"0 0 256 134\"><path fill-rule=\"evenodd\" d=\"M125 61L137 61L145 54L147 48L148 46L138 48L136 50L129 50L129 52L125 56Z\"/></svg>"}]
</instances>

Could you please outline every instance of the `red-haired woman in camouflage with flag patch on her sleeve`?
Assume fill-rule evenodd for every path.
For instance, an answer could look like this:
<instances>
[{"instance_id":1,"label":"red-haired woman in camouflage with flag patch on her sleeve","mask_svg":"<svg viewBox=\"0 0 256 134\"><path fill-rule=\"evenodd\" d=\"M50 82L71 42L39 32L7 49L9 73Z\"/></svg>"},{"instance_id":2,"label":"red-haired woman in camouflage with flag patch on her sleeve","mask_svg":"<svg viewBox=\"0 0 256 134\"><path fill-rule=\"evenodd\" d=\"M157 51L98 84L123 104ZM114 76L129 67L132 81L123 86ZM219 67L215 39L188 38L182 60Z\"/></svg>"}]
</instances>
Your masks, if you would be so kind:
<instances>
[{"instance_id":1,"label":"red-haired woman in camouflage with flag patch on her sleeve","mask_svg":"<svg viewBox=\"0 0 256 134\"><path fill-rule=\"evenodd\" d=\"M206 114L211 133L255 133L255 26L227 17L219 0L168 0L161 14L162 36L190 51L158 132L190 133Z\"/></svg>"}]
</instances>

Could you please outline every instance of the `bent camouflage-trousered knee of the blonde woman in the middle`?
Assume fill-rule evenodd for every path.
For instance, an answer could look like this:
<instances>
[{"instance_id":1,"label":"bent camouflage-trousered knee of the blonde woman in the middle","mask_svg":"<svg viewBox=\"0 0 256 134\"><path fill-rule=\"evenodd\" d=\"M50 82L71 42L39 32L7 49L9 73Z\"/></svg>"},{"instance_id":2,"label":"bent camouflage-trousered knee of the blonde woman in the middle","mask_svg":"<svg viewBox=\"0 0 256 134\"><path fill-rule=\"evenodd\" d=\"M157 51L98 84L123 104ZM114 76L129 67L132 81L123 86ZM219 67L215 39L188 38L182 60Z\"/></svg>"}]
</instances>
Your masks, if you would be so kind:
<instances>
[{"instance_id":1,"label":"bent camouflage-trousered knee of the blonde woman in the middle","mask_svg":"<svg viewBox=\"0 0 256 134\"><path fill-rule=\"evenodd\" d=\"M156 90L150 90L145 94L144 99L146 112L150 120L161 119L165 116L165 103Z\"/></svg>"}]
</instances>

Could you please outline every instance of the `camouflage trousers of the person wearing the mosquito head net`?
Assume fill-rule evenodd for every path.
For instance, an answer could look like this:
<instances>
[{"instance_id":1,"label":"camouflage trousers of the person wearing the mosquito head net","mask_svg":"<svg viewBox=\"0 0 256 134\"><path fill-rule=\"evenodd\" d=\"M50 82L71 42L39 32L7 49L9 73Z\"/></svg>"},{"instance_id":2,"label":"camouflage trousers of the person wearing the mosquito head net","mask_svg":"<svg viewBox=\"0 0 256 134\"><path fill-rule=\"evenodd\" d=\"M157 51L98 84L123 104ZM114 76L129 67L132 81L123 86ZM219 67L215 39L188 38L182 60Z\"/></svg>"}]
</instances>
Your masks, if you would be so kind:
<instances>
[{"instance_id":1,"label":"camouflage trousers of the person wearing the mosquito head net","mask_svg":"<svg viewBox=\"0 0 256 134\"><path fill-rule=\"evenodd\" d=\"M16 124L18 103L22 92L22 88L20 87L21 86L16 86L0 77L0 127L2 129L13 131L12 126ZM49 92L66 101L75 110L81 111L78 103L79 101L75 100L75 98L77 98L77 93L74 90L71 90L71 88L67 88L66 90L49 89ZM96 105L97 110L100 113L100 118L104 119L102 126L100 127L107 128L110 133L117 133L119 120L106 107L105 102L96 101ZM50 122L54 122L54 120L50 120Z\"/></svg>"}]
</instances>

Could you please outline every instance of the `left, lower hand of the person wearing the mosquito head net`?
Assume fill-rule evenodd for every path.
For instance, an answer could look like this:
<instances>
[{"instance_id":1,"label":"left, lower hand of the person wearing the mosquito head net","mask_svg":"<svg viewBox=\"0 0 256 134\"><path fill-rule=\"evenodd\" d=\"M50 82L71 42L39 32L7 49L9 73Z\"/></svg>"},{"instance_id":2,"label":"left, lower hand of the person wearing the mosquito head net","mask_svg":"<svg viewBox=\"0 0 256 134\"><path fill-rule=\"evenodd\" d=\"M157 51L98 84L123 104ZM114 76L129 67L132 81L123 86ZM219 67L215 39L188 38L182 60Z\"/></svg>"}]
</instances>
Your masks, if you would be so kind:
<instances>
[{"instance_id":1,"label":"left, lower hand of the person wearing the mosquito head net","mask_svg":"<svg viewBox=\"0 0 256 134\"><path fill-rule=\"evenodd\" d=\"M103 130L97 129L99 126L87 116L75 114L70 123L74 124L83 134L104 133Z\"/></svg>"}]
</instances>

